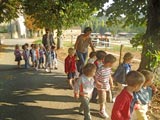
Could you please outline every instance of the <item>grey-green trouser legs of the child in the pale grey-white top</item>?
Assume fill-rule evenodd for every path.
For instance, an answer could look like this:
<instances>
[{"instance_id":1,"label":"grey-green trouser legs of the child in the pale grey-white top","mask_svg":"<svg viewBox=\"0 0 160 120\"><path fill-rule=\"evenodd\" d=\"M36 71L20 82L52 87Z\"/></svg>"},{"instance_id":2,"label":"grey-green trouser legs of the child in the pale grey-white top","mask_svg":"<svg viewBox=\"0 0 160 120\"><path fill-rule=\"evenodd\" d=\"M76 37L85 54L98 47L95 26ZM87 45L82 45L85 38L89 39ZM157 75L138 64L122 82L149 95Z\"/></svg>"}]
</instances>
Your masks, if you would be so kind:
<instances>
[{"instance_id":1,"label":"grey-green trouser legs of the child in the pale grey-white top","mask_svg":"<svg viewBox=\"0 0 160 120\"><path fill-rule=\"evenodd\" d=\"M84 120L91 120L90 106L89 106L90 99L87 97L80 97L80 101L81 101L80 109L84 110Z\"/></svg>"}]
</instances>

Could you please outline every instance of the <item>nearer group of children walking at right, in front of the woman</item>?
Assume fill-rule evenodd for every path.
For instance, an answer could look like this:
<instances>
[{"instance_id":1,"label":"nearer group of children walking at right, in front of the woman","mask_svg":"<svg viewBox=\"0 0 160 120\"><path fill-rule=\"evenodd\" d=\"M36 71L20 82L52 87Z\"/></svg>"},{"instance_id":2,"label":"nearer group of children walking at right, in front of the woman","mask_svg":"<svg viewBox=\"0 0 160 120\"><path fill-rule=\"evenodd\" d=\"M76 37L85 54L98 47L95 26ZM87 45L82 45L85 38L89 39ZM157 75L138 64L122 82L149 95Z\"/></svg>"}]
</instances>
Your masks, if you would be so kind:
<instances>
[{"instance_id":1,"label":"nearer group of children walking at right, in front of the woman","mask_svg":"<svg viewBox=\"0 0 160 120\"><path fill-rule=\"evenodd\" d=\"M114 101L111 120L148 120L147 109L152 98L152 88L154 75L148 70L132 71L130 63L133 55L126 53L124 61L119 65L114 74L112 67L116 62L116 57L107 54L105 51L91 52L83 73L77 75L76 51L68 49L68 56L65 59L65 72L71 88L74 89L75 98L81 104L79 112L84 114L84 120L91 120L90 100L95 101L98 97L99 114L103 118L109 118L106 112L106 101L108 93L114 84L118 83L121 92Z\"/></svg>"}]
</instances>

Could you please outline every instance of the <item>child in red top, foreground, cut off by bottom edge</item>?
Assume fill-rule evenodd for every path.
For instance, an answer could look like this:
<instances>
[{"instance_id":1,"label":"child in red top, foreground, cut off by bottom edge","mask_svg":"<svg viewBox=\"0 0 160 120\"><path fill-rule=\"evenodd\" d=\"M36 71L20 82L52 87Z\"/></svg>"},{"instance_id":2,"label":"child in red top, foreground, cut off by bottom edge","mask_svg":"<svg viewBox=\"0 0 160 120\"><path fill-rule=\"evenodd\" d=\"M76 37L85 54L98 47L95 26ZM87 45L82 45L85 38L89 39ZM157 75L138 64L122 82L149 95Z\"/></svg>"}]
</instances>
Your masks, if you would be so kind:
<instances>
[{"instance_id":1,"label":"child in red top, foreground, cut off by bottom edge","mask_svg":"<svg viewBox=\"0 0 160 120\"><path fill-rule=\"evenodd\" d=\"M130 120L130 107L133 100L133 93L141 89L144 81L145 78L140 72L131 71L127 74L127 86L116 98L112 109L111 120Z\"/></svg>"}]
</instances>

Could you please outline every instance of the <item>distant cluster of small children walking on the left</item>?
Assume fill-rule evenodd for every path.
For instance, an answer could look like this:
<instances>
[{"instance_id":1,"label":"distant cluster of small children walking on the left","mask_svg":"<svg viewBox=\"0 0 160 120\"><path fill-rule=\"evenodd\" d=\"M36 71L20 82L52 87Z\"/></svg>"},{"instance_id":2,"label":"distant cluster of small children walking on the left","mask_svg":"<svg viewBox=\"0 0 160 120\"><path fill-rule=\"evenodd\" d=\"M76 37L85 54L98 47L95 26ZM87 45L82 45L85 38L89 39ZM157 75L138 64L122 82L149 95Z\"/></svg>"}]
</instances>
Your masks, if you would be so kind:
<instances>
[{"instance_id":1,"label":"distant cluster of small children walking on the left","mask_svg":"<svg viewBox=\"0 0 160 120\"><path fill-rule=\"evenodd\" d=\"M29 44L22 45L22 51L20 46L15 46L15 61L17 62L18 68L21 67L21 60L23 58L25 62L25 69L30 67L38 69L45 69L46 72L51 72L51 69L57 69L57 53L55 46L44 47L41 44Z\"/></svg>"}]
</instances>

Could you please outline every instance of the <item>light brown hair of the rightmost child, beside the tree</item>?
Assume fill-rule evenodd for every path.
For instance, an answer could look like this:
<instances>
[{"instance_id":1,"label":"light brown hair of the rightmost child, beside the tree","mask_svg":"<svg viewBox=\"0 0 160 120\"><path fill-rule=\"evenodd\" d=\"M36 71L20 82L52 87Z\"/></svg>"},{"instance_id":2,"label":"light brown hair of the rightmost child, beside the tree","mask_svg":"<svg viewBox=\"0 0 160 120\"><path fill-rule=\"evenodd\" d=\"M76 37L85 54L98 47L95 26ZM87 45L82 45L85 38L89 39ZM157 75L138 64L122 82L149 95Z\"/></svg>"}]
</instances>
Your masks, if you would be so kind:
<instances>
[{"instance_id":1,"label":"light brown hair of the rightmost child, beside the tree","mask_svg":"<svg viewBox=\"0 0 160 120\"><path fill-rule=\"evenodd\" d=\"M144 75L146 82L154 78L153 72L149 70L142 70L141 73Z\"/></svg>"}]
</instances>

